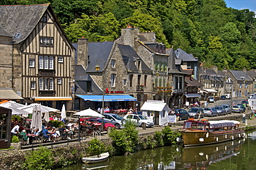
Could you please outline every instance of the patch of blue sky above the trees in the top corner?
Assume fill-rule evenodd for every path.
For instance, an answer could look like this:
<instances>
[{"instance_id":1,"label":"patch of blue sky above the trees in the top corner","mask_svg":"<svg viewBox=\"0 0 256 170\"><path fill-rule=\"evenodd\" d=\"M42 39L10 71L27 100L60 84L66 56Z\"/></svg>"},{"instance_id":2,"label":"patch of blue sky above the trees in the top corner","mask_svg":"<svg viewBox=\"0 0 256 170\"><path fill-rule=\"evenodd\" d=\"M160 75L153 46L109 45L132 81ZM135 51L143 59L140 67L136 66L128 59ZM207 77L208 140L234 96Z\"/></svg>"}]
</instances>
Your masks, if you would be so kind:
<instances>
[{"instance_id":1,"label":"patch of blue sky above the trees in the top corner","mask_svg":"<svg viewBox=\"0 0 256 170\"><path fill-rule=\"evenodd\" d=\"M226 1L228 8L234 8L237 10L249 9L256 13L256 0L224 0Z\"/></svg>"}]
</instances>

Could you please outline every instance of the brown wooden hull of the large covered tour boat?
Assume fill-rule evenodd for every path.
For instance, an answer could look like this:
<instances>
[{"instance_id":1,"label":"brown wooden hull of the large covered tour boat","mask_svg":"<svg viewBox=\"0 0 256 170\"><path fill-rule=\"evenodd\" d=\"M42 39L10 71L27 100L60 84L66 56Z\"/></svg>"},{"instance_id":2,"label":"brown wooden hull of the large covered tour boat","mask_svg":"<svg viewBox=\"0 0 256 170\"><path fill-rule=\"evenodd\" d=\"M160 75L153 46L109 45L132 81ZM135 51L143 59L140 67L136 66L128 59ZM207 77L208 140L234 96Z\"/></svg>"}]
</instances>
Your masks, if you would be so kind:
<instances>
[{"instance_id":1,"label":"brown wooden hull of the large covered tour boat","mask_svg":"<svg viewBox=\"0 0 256 170\"><path fill-rule=\"evenodd\" d=\"M229 140L236 140L239 138L244 138L244 131L233 130L233 131L219 131L219 132L209 132L209 131L181 131L182 138L185 147L199 146L205 144L216 144L219 142L227 142Z\"/></svg>"}]
</instances>

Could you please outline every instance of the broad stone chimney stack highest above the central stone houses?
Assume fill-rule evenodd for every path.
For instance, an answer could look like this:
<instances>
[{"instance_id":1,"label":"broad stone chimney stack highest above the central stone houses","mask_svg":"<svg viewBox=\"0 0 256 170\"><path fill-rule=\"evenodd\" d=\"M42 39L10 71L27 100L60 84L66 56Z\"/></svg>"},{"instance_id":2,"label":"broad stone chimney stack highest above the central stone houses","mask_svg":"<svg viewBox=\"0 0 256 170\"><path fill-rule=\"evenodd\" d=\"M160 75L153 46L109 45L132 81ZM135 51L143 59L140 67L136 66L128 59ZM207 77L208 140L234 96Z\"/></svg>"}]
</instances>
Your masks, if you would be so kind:
<instances>
[{"instance_id":1,"label":"broad stone chimney stack highest above the central stone houses","mask_svg":"<svg viewBox=\"0 0 256 170\"><path fill-rule=\"evenodd\" d=\"M139 30L139 28L132 28L129 24L127 28L123 28L121 32L123 44L134 47L135 41L139 40Z\"/></svg>"}]
</instances>

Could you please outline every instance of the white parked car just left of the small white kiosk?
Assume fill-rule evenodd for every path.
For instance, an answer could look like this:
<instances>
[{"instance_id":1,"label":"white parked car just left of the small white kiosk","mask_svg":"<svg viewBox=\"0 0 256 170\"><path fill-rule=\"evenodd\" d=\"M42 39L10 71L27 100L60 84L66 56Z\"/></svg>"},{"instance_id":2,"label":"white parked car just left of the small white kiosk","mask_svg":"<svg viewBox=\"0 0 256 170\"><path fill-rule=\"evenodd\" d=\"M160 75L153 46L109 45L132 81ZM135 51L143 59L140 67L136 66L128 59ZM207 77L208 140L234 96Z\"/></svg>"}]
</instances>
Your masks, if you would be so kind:
<instances>
[{"instance_id":1,"label":"white parked car just left of the small white kiosk","mask_svg":"<svg viewBox=\"0 0 256 170\"><path fill-rule=\"evenodd\" d=\"M143 124L146 124L147 127L154 126L153 120L148 120L147 117L144 117L143 115L127 114L124 119L135 122L138 126L143 126Z\"/></svg>"}]
</instances>

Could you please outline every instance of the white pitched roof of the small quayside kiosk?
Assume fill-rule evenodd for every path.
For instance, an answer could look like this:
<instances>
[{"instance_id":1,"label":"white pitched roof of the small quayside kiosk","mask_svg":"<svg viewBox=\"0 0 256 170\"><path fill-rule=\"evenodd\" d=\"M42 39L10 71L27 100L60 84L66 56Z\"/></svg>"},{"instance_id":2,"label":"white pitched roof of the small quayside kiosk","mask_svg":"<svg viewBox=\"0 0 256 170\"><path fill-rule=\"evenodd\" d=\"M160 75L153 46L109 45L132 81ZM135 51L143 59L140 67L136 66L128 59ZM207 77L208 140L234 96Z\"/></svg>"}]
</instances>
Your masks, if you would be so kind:
<instances>
[{"instance_id":1,"label":"white pitched roof of the small quayside kiosk","mask_svg":"<svg viewBox=\"0 0 256 170\"><path fill-rule=\"evenodd\" d=\"M167 109L169 112L170 107L164 102L145 102L143 106L140 108L141 111L163 111L163 108Z\"/></svg>"}]
</instances>

